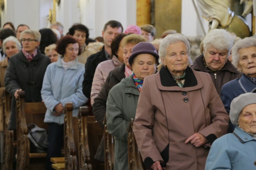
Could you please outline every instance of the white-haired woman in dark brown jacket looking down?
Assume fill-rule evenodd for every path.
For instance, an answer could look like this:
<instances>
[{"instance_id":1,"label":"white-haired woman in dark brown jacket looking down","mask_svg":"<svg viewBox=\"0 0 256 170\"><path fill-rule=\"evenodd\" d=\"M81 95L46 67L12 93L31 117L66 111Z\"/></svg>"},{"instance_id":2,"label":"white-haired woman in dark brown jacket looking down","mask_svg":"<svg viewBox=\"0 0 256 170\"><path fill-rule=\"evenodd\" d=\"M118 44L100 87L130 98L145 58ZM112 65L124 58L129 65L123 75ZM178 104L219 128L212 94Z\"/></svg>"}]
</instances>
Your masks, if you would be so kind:
<instances>
[{"instance_id":1,"label":"white-haired woman in dark brown jacket looking down","mask_svg":"<svg viewBox=\"0 0 256 170\"><path fill-rule=\"evenodd\" d=\"M203 54L197 57L191 66L196 71L211 75L218 94L221 94L224 84L241 77L239 71L228 60L233 41L234 36L226 30L210 31L203 40Z\"/></svg>"}]
</instances>

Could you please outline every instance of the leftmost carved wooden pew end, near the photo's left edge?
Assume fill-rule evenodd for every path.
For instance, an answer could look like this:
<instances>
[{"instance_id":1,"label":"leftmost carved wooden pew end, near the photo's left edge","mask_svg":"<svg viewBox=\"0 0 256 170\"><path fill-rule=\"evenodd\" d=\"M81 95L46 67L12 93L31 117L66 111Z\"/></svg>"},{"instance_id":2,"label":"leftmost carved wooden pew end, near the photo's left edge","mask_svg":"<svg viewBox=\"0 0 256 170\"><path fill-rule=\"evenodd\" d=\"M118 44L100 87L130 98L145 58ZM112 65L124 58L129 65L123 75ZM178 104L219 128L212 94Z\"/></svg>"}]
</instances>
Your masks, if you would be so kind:
<instances>
[{"instance_id":1,"label":"leftmost carved wooden pew end, near the photo's left edge","mask_svg":"<svg viewBox=\"0 0 256 170\"><path fill-rule=\"evenodd\" d=\"M11 115L11 96L4 90L3 93L3 162L1 165L2 170L13 169L13 143L14 135L13 130L9 131L9 121Z\"/></svg>"}]
</instances>

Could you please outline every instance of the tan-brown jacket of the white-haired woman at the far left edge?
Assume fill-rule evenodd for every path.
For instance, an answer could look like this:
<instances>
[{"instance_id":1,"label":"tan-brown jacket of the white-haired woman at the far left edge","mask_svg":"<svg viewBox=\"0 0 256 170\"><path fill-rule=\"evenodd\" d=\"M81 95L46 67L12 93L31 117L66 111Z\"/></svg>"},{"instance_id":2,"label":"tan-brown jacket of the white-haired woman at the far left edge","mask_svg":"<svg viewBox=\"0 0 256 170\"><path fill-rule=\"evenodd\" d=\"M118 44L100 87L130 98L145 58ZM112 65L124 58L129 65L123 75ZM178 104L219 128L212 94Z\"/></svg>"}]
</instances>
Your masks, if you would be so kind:
<instances>
[{"instance_id":1,"label":"tan-brown jacket of the white-haired woman at the far left edge","mask_svg":"<svg viewBox=\"0 0 256 170\"><path fill-rule=\"evenodd\" d=\"M8 66L8 60L5 58L0 62L0 131L3 130L3 91L4 91L4 76Z\"/></svg>"}]
</instances>

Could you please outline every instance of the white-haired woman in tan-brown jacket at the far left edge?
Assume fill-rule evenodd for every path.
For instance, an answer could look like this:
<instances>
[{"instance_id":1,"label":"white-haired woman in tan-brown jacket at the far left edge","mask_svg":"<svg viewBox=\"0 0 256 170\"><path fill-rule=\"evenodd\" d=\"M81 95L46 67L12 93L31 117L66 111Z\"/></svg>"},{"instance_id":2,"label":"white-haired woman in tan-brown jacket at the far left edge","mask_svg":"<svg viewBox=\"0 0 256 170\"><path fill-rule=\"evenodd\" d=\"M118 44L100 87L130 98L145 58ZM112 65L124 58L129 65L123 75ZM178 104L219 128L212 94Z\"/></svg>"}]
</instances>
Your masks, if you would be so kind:
<instances>
[{"instance_id":1,"label":"white-haired woman in tan-brown jacket at the far left edge","mask_svg":"<svg viewBox=\"0 0 256 170\"><path fill-rule=\"evenodd\" d=\"M6 54L6 58L0 62L0 96L3 96L3 91L4 91L4 75L7 66L9 65L9 60L10 58L19 52L21 49L21 44L19 40L14 37L10 36L8 38L5 38L3 40L3 52ZM2 97L0 98L0 129L3 130L3 99Z\"/></svg>"}]
</instances>

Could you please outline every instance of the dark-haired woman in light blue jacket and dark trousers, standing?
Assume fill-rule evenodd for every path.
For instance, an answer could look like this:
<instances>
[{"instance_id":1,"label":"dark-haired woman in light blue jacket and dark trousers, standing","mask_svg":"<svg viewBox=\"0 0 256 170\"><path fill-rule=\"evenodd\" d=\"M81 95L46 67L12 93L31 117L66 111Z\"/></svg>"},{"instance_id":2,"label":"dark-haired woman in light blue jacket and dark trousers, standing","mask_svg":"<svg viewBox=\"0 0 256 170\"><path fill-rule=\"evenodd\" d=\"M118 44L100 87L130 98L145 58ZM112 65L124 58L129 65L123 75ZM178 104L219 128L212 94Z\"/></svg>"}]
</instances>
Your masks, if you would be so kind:
<instances>
[{"instance_id":1,"label":"dark-haired woman in light blue jacket and dark trousers, standing","mask_svg":"<svg viewBox=\"0 0 256 170\"><path fill-rule=\"evenodd\" d=\"M52 169L51 157L61 157L65 103L73 102L73 116L77 116L79 107L88 100L82 92L84 65L77 61L79 44L67 35L61 38L56 51L62 56L47 67L41 90L47 107L44 122L49 124L46 169Z\"/></svg>"}]
</instances>

